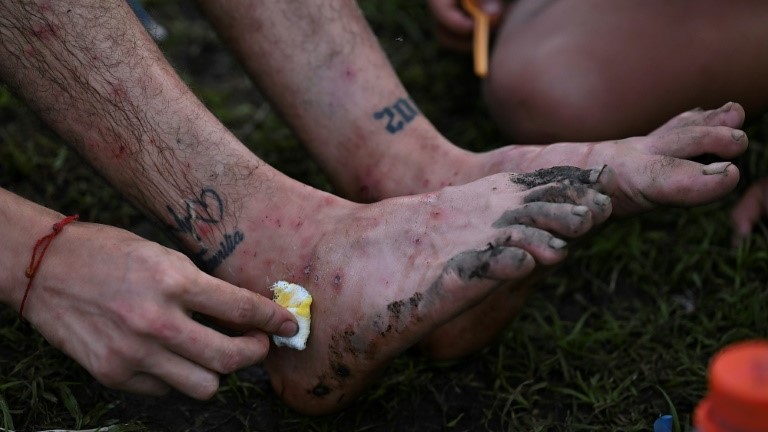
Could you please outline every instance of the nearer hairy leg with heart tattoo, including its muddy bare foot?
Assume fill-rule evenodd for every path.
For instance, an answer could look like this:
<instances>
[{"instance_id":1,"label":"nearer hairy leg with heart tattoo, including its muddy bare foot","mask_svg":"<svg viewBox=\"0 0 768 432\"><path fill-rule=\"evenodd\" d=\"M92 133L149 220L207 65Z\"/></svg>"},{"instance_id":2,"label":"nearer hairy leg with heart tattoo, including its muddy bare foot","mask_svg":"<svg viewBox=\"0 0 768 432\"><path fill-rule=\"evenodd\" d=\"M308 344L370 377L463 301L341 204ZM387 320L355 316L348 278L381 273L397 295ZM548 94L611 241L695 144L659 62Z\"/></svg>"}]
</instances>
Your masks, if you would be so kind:
<instances>
[{"instance_id":1,"label":"nearer hairy leg with heart tattoo, including its muddy bare foot","mask_svg":"<svg viewBox=\"0 0 768 432\"><path fill-rule=\"evenodd\" d=\"M312 293L308 349L275 349L267 360L276 390L298 409L348 403L393 356L503 284L524 280L537 262L564 259L559 237L579 237L610 215L601 192L613 194L617 183L602 165L497 174L370 205L345 201L277 172L239 143L125 2L2 5L0 76L200 266L262 296L280 279ZM177 295L196 305L204 297L190 289ZM222 310L238 317L261 307ZM173 347L201 344L161 312L151 317L141 332ZM212 364L239 365L243 355L225 351ZM217 371L196 395L210 396Z\"/></svg>"}]
</instances>

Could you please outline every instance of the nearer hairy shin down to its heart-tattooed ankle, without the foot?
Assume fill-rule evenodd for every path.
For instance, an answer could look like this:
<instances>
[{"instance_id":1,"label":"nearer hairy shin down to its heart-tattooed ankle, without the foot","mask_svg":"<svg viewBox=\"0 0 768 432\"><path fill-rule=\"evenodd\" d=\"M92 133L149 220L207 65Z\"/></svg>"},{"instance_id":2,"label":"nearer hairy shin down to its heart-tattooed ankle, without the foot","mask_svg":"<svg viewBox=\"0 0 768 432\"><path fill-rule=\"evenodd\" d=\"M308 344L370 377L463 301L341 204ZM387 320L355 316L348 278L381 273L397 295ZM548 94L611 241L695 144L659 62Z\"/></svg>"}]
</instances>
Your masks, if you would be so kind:
<instances>
[{"instance_id":1,"label":"nearer hairy shin down to its heart-tattooed ankle, without the foot","mask_svg":"<svg viewBox=\"0 0 768 432\"><path fill-rule=\"evenodd\" d=\"M237 236L244 186L269 188L124 1L3 2L0 74L209 268Z\"/></svg>"}]
</instances>

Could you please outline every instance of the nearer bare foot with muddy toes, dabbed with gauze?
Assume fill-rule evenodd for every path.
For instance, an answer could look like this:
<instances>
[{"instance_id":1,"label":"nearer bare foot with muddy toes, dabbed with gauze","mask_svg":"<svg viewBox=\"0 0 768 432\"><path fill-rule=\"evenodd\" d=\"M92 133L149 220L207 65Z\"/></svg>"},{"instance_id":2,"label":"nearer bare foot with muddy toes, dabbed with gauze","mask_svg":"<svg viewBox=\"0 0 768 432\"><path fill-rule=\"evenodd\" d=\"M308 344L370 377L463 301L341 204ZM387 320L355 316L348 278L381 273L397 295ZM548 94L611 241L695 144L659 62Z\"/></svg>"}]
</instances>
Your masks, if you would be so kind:
<instances>
[{"instance_id":1,"label":"nearer bare foot with muddy toes, dabbed with gauze","mask_svg":"<svg viewBox=\"0 0 768 432\"><path fill-rule=\"evenodd\" d=\"M440 324L564 259L558 237L605 221L610 199L596 190L613 185L610 169L562 167L371 205L297 185L273 213L240 221L242 245L216 273L263 295L281 279L311 292L307 349L273 347L266 364L290 406L324 413Z\"/></svg>"}]
</instances>

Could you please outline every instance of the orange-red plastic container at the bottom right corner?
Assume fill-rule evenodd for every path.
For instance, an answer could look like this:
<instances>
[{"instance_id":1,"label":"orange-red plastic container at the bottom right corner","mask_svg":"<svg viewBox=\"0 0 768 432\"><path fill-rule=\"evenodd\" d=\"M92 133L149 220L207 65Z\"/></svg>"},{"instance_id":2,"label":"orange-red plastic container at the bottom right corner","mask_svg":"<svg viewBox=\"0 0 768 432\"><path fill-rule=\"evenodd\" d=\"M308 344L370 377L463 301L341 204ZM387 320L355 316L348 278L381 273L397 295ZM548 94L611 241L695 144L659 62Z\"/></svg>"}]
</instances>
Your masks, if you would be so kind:
<instances>
[{"instance_id":1,"label":"orange-red plastic container at the bottom right corner","mask_svg":"<svg viewBox=\"0 0 768 432\"><path fill-rule=\"evenodd\" d=\"M709 393L696 407L697 432L768 432L768 340L725 347L709 366Z\"/></svg>"}]
</instances>

